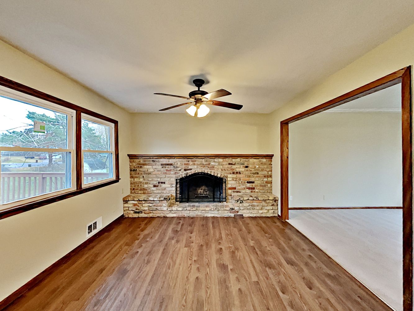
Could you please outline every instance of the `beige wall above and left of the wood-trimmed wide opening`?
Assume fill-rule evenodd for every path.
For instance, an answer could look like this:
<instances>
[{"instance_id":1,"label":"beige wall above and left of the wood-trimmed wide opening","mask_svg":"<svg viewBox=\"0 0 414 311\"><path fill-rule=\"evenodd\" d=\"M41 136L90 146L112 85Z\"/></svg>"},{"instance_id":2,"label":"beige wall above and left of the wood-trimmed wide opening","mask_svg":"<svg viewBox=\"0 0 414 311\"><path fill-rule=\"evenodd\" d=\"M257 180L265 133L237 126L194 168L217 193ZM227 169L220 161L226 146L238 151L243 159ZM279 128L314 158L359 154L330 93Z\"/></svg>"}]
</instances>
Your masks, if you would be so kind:
<instances>
[{"instance_id":1,"label":"beige wall above and left of the wood-trimmed wide opening","mask_svg":"<svg viewBox=\"0 0 414 311\"><path fill-rule=\"evenodd\" d=\"M280 154L280 121L414 64L414 25L272 112L272 153ZM273 159L273 193L280 196L280 158Z\"/></svg>"}]
</instances>

